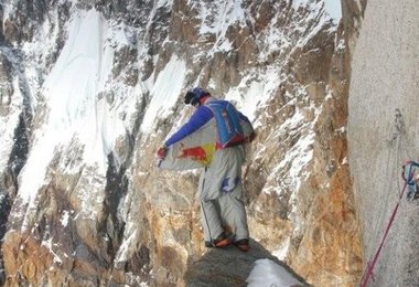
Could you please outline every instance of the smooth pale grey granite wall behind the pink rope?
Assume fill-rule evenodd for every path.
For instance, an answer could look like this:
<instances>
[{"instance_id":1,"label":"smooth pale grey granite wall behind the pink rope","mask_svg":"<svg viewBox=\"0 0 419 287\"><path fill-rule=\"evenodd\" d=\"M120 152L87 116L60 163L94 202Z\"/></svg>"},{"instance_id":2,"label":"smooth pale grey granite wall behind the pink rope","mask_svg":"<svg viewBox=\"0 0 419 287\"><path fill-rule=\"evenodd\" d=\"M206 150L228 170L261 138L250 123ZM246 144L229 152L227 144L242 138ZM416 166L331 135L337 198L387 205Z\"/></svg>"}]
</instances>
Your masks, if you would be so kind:
<instances>
[{"instance_id":1,"label":"smooth pale grey granite wall behind the pink rope","mask_svg":"<svg viewBox=\"0 0 419 287\"><path fill-rule=\"evenodd\" d=\"M348 144L364 265L396 209L402 162L418 160L418 13L415 1L368 1L355 47ZM418 286L417 213L404 196L368 286Z\"/></svg>"}]
</instances>

